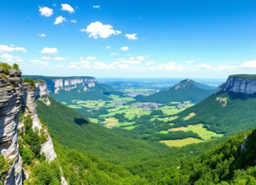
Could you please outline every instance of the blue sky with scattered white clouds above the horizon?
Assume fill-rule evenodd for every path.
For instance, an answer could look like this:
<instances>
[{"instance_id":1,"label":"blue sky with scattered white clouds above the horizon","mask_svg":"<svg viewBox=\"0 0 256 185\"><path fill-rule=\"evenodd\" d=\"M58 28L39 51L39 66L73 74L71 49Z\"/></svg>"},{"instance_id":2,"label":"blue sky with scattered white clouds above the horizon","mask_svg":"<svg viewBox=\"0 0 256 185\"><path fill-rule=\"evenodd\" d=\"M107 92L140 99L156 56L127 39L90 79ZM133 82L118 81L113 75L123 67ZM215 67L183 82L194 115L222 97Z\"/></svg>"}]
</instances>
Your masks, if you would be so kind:
<instances>
[{"instance_id":1,"label":"blue sky with scattered white clouds above the horizon","mask_svg":"<svg viewBox=\"0 0 256 185\"><path fill-rule=\"evenodd\" d=\"M255 74L256 1L1 1L0 61L23 74Z\"/></svg>"}]
</instances>

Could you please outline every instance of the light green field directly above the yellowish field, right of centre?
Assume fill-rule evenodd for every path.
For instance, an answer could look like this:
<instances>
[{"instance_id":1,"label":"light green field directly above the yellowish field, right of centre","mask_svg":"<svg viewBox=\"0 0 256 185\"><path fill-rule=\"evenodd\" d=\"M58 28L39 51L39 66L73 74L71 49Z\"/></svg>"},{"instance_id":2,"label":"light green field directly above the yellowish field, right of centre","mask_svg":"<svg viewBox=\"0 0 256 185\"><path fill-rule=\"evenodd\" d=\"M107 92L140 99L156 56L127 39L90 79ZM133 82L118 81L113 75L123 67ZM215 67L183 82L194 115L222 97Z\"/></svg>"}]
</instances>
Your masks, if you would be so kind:
<instances>
[{"instance_id":1,"label":"light green field directly above the yellowish field, right of centre","mask_svg":"<svg viewBox=\"0 0 256 185\"><path fill-rule=\"evenodd\" d=\"M188 127L172 128L170 131L178 131L178 130L182 130L185 132L188 132L188 131L195 132L203 139L210 139L212 136L213 137L223 136L223 134L216 134L213 131L207 130L206 128L203 127L203 124L189 125Z\"/></svg>"}]
</instances>

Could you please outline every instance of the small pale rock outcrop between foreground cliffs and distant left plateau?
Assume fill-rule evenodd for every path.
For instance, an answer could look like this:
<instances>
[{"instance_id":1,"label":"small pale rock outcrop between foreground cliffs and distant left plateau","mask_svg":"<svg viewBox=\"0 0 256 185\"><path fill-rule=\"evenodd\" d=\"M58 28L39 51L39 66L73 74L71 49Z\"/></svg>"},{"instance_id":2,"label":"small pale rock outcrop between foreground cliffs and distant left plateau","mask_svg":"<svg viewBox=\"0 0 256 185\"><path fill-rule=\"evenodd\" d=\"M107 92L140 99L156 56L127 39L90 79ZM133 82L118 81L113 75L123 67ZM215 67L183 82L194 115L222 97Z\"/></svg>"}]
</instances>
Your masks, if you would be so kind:
<instances>
[{"instance_id":1,"label":"small pale rock outcrop between foreground cliffs and distant left plateau","mask_svg":"<svg viewBox=\"0 0 256 185\"><path fill-rule=\"evenodd\" d=\"M45 81L39 81L35 83L36 85L36 95L35 99L42 100L46 105L50 105L51 102L48 99L47 84Z\"/></svg>"}]
</instances>

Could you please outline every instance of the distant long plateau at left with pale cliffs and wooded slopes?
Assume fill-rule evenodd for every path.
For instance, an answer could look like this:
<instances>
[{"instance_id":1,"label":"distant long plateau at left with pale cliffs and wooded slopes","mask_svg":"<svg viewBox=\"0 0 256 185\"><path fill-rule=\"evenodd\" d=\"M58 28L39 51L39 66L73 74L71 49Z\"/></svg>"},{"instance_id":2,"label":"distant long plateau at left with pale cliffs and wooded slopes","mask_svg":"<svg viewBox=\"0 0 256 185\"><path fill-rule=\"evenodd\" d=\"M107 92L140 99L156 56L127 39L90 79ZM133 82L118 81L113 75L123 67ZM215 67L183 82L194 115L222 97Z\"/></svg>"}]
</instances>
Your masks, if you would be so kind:
<instances>
[{"instance_id":1,"label":"distant long plateau at left with pale cliffs and wooded slopes","mask_svg":"<svg viewBox=\"0 0 256 185\"><path fill-rule=\"evenodd\" d=\"M108 95L123 96L123 92L105 84L100 84L95 77L46 77L37 75L22 75L22 78L44 80L50 96L62 102L72 100L112 100Z\"/></svg>"}]
</instances>

